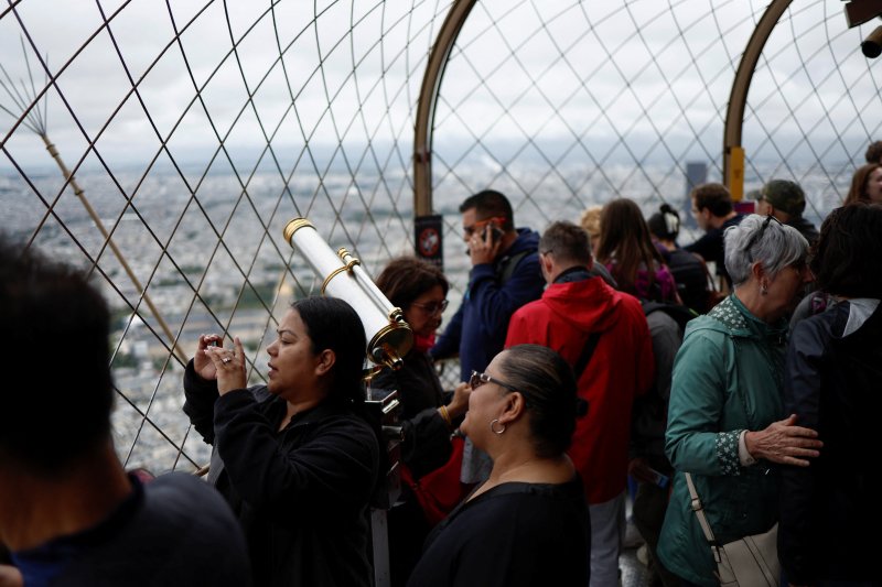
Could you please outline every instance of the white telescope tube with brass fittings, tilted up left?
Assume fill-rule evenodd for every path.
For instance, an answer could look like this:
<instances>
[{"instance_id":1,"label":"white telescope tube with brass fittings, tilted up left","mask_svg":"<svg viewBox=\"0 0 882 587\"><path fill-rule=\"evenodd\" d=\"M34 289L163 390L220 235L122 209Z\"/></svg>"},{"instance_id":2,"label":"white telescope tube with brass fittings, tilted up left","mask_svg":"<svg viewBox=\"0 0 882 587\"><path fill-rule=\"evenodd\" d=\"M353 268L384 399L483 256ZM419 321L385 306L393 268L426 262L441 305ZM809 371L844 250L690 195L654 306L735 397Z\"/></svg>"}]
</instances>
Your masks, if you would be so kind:
<instances>
[{"instance_id":1,"label":"white telescope tube with brass fittings, tilted up left","mask_svg":"<svg viewBox=\"0 0 882 587\"><path fill-rule=\"evenodd\" d=\"M413 346L413 331L400 307L379 291L362 269L362 262L345 248L336 254L305 218L284 227L284 240L299 250L315 274L322 278L322 295L347 302L362 318L367 335L367 357L377 366L400 369L402 357Z\"/></svg>"}]
</instances>

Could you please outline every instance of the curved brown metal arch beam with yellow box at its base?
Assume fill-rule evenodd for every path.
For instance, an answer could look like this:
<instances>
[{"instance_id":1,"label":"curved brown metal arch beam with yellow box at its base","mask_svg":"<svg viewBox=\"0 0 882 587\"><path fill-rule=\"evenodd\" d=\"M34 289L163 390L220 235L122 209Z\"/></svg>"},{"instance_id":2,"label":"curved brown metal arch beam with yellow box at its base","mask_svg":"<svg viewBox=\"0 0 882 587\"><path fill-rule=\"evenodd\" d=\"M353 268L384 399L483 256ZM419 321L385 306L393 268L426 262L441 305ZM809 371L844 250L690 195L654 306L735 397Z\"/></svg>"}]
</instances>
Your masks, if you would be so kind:
<instances>
[{"instance_id":1,"label":"curved brown metal arch beam with yellow box at its base","mask_svg":"<svg viewBox=\"0 0 882 587\"><path fill-rule=\"evenodd\" d=\"M772 0L765 13L756 24L732 83L729 95L729 108L725 112L723 131L723 181L732 193L732 199L740 200L744 194L744 150L741 145L741 130L744 123L744 105L747 102L747 90L751 87L753 72L763 53L765 42L775 29L781 15L790 6L792 0Z\"/></svg>"}]
</instances>

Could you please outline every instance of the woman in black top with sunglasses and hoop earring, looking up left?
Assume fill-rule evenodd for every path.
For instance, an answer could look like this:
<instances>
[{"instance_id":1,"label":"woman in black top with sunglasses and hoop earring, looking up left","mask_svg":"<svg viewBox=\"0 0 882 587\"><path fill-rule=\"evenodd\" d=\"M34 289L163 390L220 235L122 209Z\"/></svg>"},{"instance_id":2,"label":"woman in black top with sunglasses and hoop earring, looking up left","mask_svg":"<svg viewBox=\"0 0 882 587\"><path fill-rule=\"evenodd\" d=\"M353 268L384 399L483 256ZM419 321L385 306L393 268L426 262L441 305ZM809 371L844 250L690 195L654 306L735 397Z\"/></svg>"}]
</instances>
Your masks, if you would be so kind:
<instances>
[{"instance_id":1,"label":"woman in black top with sunglasses and hoop earring, looking up left","mask_svg":"<svg viewBox=\"0 0 882 587\"><path fill-rule=\"evenodd\" d=\"M547 347L518 345L470 384L460 427L493 469L429 535L408 585L588 585L588 504L566 454L578 412L572 369Z\"/></svg>"}]
</instances>

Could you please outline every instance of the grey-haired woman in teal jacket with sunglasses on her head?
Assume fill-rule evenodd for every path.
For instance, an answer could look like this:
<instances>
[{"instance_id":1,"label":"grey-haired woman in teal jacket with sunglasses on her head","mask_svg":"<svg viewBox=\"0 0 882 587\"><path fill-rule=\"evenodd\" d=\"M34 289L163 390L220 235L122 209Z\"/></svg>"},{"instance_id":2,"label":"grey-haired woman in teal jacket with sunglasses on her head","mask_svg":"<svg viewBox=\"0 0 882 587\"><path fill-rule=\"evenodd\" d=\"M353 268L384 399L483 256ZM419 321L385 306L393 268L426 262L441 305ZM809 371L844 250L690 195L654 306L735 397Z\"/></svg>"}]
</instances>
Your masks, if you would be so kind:
<instances>
[{"instance_id":1,"label":"grey-haired woman in teal jacket with sunglasses on her head","mask_svg":"<svg viewBox=\"0 0 882 587\"><path fill-rule=\"evenodd\" d=\"M808 279L808 243L774 216L725 232L734 292L686 327L674 366L665 449L676 472L658 556L685 585L716 587L717 565L691 509L692 475L720 543L778 521L778 468L807 466L817 433L784 411L787 314Z\"/></svg>"}]
</instances>

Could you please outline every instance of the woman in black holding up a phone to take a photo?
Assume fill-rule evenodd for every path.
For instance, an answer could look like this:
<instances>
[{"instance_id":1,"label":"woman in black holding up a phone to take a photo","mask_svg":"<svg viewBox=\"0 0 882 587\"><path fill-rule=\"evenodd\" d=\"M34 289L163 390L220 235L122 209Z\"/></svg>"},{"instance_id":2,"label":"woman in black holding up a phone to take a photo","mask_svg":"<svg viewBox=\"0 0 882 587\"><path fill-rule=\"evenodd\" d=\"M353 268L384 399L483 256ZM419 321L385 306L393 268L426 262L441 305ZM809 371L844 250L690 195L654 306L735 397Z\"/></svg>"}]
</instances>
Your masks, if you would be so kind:
<instances>
[{"instance_id":1,"label":"woman in black holding up a phone to take a photo","mask_svg":"<svg viewBox=\"0 0 882 587\"><path fill-rule=\"evenodd\" d=\"M362 382L365 331L333 297L291 304L267 347L267 384L246 358L202 335L184 412L213 445L208 480L245 530L255 585L369 586L367 509L379 443Z\"/></svg>"}]
</instances>

